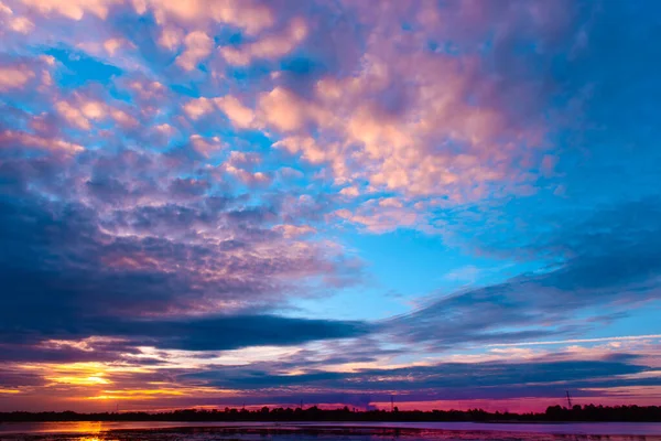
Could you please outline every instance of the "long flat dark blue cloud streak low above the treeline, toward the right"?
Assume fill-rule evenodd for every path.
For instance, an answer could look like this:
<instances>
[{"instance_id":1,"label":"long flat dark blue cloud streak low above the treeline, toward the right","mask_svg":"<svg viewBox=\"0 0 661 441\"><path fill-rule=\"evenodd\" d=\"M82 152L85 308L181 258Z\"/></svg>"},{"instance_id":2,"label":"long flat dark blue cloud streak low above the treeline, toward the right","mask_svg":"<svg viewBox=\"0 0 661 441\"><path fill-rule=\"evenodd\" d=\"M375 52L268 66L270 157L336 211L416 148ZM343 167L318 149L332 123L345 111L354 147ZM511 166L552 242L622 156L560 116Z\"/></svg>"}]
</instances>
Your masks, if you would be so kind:
<instances>
[{"instance_id":1,"label":"long flat dark blue cloud streak low above the treeline, toward the right","mask_svg":"<svg viewBox=\"0 0 661 441\"><path fill-rule=\"evenodd\" d=\"M296 402L304 396L308 402L354 402L368 394L368 402L389 401L395 394L398 401L433 401L464 399L506 399L520 397L523 391L534 397L561 397L565 388L576 396L588 395L593 387L614 385L658 385L650 381L630 381L628 375L648 368L636 361L576 359L552 362L543 358L518 362L438 363L401 368L358 369L353 373L310 370L304 374L273 375L245 367L213 369L185 375L204 380L207 385L260 391L269 388L271 396L260 394L267 402ZM281 390L272 389L280 385ZM377 386L378 385L378 386ZM597 386L599 385L599 386ZM294 388L293 391L289 391ZM581 389L586 389L582 391ZM332 398L342 397L342 398ZM300 398L299 398L300 399ZM263 402L263 401L262 401Z\"/></svg>"}]
</instances>

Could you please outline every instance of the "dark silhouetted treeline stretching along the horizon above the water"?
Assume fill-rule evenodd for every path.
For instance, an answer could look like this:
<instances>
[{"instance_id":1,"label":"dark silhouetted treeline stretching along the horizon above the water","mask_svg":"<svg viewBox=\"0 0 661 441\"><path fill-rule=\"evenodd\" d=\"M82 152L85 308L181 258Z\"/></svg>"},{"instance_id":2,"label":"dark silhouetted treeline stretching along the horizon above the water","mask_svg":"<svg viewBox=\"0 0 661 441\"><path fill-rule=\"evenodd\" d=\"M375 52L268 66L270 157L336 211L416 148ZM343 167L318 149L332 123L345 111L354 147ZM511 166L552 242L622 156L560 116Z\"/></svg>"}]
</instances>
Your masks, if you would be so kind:
<instances>
[{"instance_id":1,"label":"dark silhouetted treeline stretching along the horizon above the water","mask_svg":"<svg viewBox=\"0 0 661 441\"><path fill-rule=\"evenodd\" d=\"M10 421L661 421L660 406L551 406L543 413L487 412L469 410L355 411L348 407L323 410L268 408L258 410L182 409L171 412L0 412L0 422Z\"/></svg>"}]
</instances>

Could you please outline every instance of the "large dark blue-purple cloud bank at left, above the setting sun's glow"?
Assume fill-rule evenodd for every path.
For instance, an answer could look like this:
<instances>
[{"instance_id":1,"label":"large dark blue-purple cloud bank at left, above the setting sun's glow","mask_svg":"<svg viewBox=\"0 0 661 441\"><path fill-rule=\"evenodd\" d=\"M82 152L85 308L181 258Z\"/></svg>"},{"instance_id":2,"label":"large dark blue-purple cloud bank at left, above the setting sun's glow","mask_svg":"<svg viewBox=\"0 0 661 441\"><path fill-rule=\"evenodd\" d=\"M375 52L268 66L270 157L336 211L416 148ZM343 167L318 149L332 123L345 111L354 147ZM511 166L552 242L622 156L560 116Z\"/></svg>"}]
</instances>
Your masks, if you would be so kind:
<instances>
[{"instance_id":1,"label":"large dark blue-purple cloud bank at left, above the setting sun's glow","mask_svg":"<svg viewBox=\"0 0 661 441\"><path fill-rule=\"evenodd\" d=\"M294 280L302 287L344 270L323 248L273 233L278 215L268 207L214 205L205 180L144 185L160 166L151 161L131 153L120 161L97 158L85 184L65 185L62 193L80 192L88 205L30 193L3 200L0 279L11 292L1 313L3 341L105 336L127 345L210 351L367 332L358 322L242 312L269 311L292 292ZM143 182L131 178L137 166ZM132 202L154 201L159 192L165 205Z\"/></svg>"}]
</instances>

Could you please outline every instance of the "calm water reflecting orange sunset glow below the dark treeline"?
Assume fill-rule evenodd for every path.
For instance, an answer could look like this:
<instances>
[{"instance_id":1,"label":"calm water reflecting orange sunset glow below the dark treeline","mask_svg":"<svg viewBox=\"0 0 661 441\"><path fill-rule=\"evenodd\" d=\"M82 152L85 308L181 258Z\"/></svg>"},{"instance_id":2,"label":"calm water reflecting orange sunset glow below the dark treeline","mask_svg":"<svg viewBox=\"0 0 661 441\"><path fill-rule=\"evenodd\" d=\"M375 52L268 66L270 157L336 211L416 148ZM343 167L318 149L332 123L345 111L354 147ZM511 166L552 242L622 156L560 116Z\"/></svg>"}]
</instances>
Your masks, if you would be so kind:
<instances>
[{"instance_id":1,"label":"calm water reflecting orange sunset glow below the dark treeline","mask_svg":"<svg viewBox=\"0 0 661 441\"><path fill-rule=\"evenodd\" d=\"M17 441L433 441L433 440L661 440L661 423L511 424L42 422L0 423L0 440Z\"/></svg>"}]
</instances>

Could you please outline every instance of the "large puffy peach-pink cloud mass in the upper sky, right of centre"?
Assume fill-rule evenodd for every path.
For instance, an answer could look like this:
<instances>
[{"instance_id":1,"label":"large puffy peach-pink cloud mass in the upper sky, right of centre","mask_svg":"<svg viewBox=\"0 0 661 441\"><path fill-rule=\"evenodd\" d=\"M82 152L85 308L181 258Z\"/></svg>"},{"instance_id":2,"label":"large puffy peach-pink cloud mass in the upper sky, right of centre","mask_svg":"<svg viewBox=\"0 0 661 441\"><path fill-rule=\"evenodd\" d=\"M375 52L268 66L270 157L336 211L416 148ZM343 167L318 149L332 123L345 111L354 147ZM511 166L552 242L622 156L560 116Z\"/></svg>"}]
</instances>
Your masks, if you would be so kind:
<instances>
[{"instance_id":1,"label":"large puffy peach-pink cloud mass in the upper sky, right of centre","mask_svg":"<svg viewBox=\"0 0 661 441\"><path fill-rule=\"evenodd\" d=\"M267 127L295 133L277 142L312 163L330 165L338 182L361 176L410 196L479 197L489 185L516 187L514 158L533 154L540 129L518 127L495 104L473 105L476 63L422 53L366 55L364 69L324 78L312 98L274 88L259 99ZM407 86L409 66L416 66ZM480 83L481 82L481 83ZM381 101L399 94L399 108ZM308 127L319 130L311 139Z\"/></svg>"}]
</instances>

